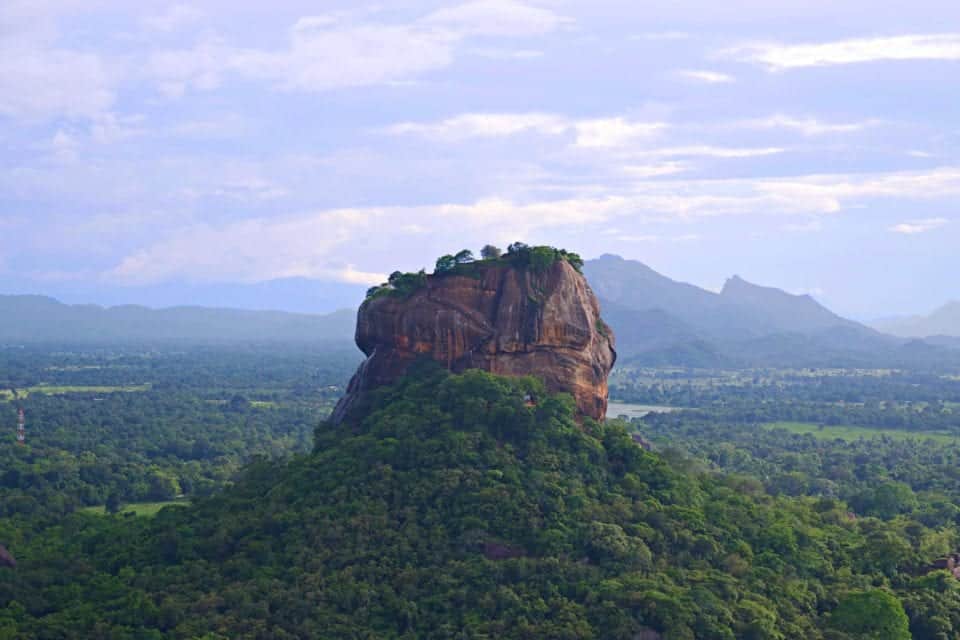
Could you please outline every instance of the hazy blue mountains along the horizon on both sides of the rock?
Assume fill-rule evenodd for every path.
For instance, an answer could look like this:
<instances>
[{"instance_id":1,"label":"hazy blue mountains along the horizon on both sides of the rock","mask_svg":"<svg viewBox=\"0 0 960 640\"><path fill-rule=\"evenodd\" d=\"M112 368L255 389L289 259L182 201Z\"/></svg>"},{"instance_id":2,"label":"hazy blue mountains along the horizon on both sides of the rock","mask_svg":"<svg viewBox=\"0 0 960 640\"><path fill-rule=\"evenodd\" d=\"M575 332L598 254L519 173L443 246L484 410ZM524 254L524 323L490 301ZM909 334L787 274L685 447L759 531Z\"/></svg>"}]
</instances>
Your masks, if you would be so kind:
<instances>
[{"instance_id":1,"label":"hazy blue mountains along the horizon on both sides of the rock","mask_svg":"<svg viewBox=\"0 0 960 640\"><path fill-rule=\"evenodd\" d=\"M751 284L737 276L716 293L614 255L589 260L583 270L600 298L604 319L616 334L621 364L960 367L960 303L926 318L905 318L871 328L840 317L811 296ZM288 279L218 286L213 293L222 296L214 299L241 306L326 309L345 299L355 309L363 298L361 289ZM203 302L212 295L196 293ZM313 315L201 306L67 305L42 296L0 296L0 343L350 344L355 321L352 309Z\"/></svg>"}]
</instances>

